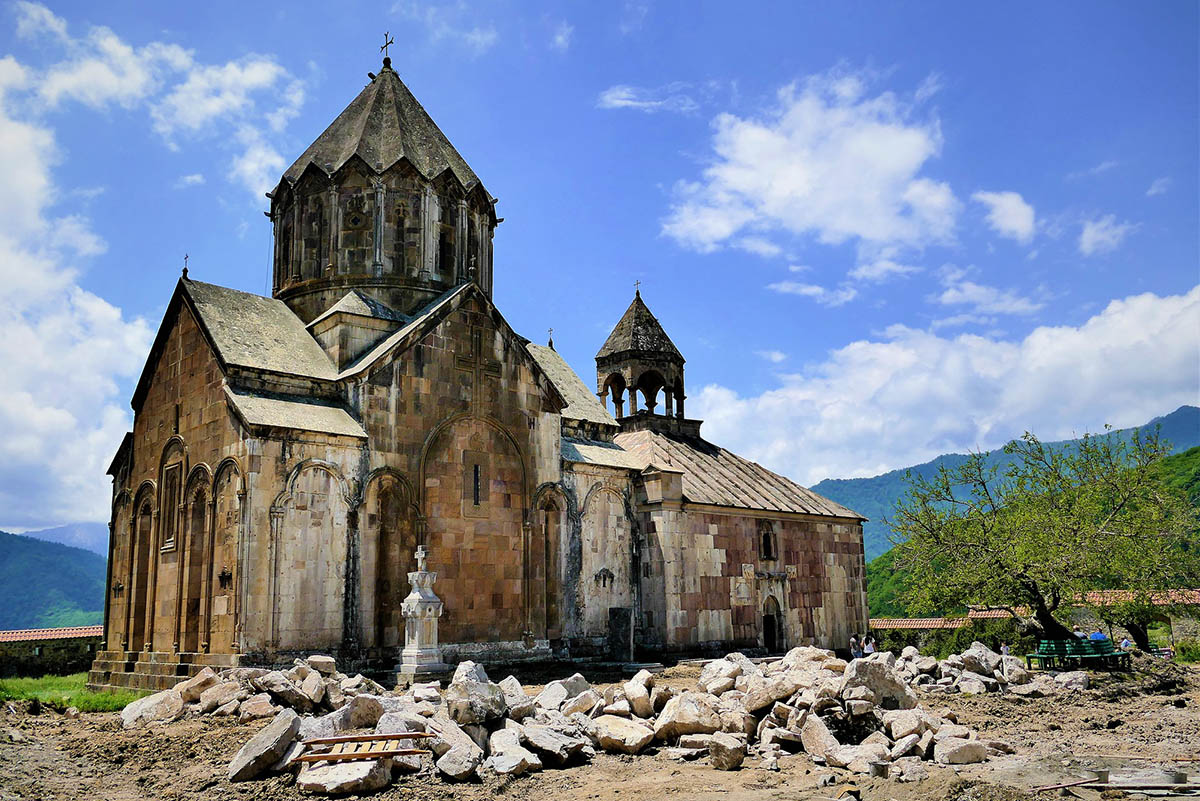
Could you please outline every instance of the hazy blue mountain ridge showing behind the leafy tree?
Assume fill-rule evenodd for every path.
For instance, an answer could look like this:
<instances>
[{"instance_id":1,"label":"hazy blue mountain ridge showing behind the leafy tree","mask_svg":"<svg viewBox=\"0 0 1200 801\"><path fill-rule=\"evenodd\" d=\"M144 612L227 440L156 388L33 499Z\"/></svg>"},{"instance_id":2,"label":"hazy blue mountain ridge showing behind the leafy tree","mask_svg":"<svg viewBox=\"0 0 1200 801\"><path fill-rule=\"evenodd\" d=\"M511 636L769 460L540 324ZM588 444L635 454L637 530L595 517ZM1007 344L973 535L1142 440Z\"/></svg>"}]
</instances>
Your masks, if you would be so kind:
<instances>
[{"instance_id":1,"label":"hazy blue mountain ridge showing behind the leafy tree","mask_svg":"<svg viewBox=\"0 0 1200 801\"><path fill-rule=\"evenodd\" d=\"M1128 438L1134 430L1147 434L1152 433L1156 427L1159 427L1159 435L1171 444L1172 453L1195 447L1200 445L1200 406L1180 406L1171 414L1154 417L1144 426L1123 428L1111 432L1109 435ZM1061 447L1074 441L1076 440L1058 440L1052 445ZM967 458L970 457L966 453L946 453L924 464L892 470L871 478L826 478L810 489L870 518L863 525L863 540L866 548L866 561L871 561L892 548L892 542L888 538L892 535L892 529L884 518L893 517L896 501L907 492L905 474L911 470L913 475L931 478L937 475L940 466L955 468L966 462ZM1001 469L1010 462L1010 457L1004 454L1002 447L989 451L986 458L989 464Z\"/></svg>"}]
</instances>

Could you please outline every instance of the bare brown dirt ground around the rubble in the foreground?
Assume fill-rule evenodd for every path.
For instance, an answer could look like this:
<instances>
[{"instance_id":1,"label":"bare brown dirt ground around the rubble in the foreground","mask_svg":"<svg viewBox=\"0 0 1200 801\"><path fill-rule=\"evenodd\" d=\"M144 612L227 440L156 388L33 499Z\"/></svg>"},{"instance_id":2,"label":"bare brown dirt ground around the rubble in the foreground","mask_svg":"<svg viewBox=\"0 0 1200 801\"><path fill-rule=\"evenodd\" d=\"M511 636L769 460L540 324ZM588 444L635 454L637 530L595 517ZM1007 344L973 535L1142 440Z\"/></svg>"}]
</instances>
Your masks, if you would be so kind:
<instances>
[{"instance_id":1,"label":"bare brown dirt ground around the rubble in the foreground","mask_svg":"<svg viewBox=\"0 0 1200 801\"><path fill-rule=\"evenodd\" d=\"M1139 661L1134 676L1094 676L1092 689L1054 698L1013 695L925 695L932 710L954 710L959 722L980 737L1009 742L1016 753L959 770L932 764L930 777L902 784L888 779L850 777L815 765L804 754L785 757L770 772L748 758L738 771L721 772L704 760L678 763L661 752L637 757L598 754L587 765L547 770L515 779L449 784L428 770L398 778L372 795L379 801L512 799L514 801L758 801L835 799L846 783L864 800L881 801L1010 801L1031 797L1033 787L1088 776L1108 767L1111 781L1165 781L1168 767L1188 770L1200 781L1200 670ZM660 681L692 688L698 669L677 667ZM282 801L301 797L290 776L230 784L229 760L265 722L240 724L217 718L193 718L167 727L121 729L116 713L84 715L70 721L24 705L0 712L0 801L96 800L133 801ZM818 787L822 775L839 783ZM1043 799L1087 801L1126 797L1115 790L1052 790ZM353 797L353 796L352 796ZM1146 797L1129 794L1128 797Z\"/></svg>"}]
</instances>

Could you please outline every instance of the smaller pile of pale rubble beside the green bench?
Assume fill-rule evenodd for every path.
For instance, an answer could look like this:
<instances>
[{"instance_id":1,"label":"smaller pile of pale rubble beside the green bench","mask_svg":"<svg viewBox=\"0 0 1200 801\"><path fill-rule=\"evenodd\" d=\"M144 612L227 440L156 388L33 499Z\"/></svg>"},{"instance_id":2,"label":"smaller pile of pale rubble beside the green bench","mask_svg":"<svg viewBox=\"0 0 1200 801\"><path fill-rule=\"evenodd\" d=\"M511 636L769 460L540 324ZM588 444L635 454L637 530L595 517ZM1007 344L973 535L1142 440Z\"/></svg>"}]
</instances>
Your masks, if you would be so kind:
<instances>
[{"instance_id":1,"label":"smaller pile of pale rubble beside the green bench","mask_svg":"<svg viewBox=\"0 0 1200 801\"><path fill-rule=\"evenodd\" d=\"M880 655L875 655L880 656ZM890 661L892 655L886 658ZM1002 656L983 643L972 643L962 654L944 660L922 656L908 646L894 662L895 669L913 687L930 693L1008 692L1027 698L1042 698L1058 689L1087 689L1087 673L1072 670L1056 676L1026 670L1020 657Z\"/></svg>"}]
</instances>

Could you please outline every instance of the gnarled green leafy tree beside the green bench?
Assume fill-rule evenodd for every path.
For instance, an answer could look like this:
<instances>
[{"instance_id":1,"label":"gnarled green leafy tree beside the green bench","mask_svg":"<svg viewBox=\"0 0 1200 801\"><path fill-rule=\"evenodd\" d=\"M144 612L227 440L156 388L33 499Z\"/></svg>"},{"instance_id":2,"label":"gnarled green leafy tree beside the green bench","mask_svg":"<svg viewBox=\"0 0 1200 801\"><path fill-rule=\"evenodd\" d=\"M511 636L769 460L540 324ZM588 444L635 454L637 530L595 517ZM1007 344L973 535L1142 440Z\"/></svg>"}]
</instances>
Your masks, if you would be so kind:
<instances>
[{"instance_id":1,"label":"gnarled green leafy tree beside the green bench","mask_svg":"<svg viewBox=\"0 0 1200 801\"><path fill-rule=\"evenodd\" d=\"M896 567L910 573L910 612L982 604L1007 609L1046 638L1072 632L1056 616L1087 590L1156 591L1200 577L1195 512L1163 480L1157 434L1084 436L1056 448L1026 433L1000 471L982 454L910 477L896 505Z\"/></svg>"}]
</instances>

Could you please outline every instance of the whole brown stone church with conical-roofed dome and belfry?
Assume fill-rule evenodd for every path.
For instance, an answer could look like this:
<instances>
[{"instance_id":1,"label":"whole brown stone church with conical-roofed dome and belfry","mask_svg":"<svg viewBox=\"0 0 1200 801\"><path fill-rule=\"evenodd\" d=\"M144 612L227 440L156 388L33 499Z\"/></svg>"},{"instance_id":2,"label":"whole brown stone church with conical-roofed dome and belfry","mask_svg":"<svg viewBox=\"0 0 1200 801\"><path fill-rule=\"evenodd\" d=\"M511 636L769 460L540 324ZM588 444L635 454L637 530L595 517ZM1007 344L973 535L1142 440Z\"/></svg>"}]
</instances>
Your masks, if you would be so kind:
<instances>
[{"instance_id":1,"label":"whole brown stone church with conical-roofed dome and belfry","mask_svg":"<svg viewBox=\"0 0 1200 801\"><path fill-rule=\"evenodd\" d=\"M865 628L862 516L702 439L640 294L594 391L509 326L496 200L389 59L269 197L272 296L185 270L137 384L91 686L388 669L418 546L448 662Z\"/></svg>"}]
</instances>

